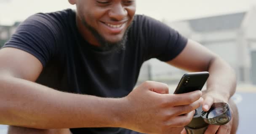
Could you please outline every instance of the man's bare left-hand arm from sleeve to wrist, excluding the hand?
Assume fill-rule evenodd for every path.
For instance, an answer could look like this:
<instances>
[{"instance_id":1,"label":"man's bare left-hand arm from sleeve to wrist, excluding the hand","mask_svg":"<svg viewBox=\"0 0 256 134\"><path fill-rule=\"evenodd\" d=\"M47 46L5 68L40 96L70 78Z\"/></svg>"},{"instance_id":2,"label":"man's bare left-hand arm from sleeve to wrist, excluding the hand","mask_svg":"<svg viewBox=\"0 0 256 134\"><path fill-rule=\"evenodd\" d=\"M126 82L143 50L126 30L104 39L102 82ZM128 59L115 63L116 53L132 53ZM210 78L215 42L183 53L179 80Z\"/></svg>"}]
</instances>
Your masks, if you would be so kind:
<instances>
[{"instance_id":1,"label":"man's bare left-hand arm from sleeve to wrist, excluding the hand","mask_svg":"<svg viewBox=\"0 0 256 134\"><path fill-rule=\"evenodd\" d=\"M115 127L119 99L64 93L34 81L41 62L14 48L0 50L0 124L38 129Z\"/></svg>"}]
</instances>

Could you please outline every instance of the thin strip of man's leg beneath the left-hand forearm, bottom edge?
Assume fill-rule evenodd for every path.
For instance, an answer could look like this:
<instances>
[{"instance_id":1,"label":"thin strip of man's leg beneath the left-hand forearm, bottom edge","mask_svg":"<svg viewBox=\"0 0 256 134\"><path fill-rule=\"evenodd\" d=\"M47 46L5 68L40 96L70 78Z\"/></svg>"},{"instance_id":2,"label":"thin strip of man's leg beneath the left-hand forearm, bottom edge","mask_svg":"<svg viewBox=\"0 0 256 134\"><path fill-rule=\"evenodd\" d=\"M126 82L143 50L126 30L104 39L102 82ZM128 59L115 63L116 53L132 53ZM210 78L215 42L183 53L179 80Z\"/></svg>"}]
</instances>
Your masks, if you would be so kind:
<instances>
[{"instance_id":1,"label":"thin strip of man's leg beneath the left-hand forearm, bottom edge","mask_svg":"<svg viewBox=\"0 0 256 134\"><path fill-rule=\"evenodd\" d=\"M31 129L9 126L8 134L71 134L69 129Z\"/></svg>"}]
</instances>

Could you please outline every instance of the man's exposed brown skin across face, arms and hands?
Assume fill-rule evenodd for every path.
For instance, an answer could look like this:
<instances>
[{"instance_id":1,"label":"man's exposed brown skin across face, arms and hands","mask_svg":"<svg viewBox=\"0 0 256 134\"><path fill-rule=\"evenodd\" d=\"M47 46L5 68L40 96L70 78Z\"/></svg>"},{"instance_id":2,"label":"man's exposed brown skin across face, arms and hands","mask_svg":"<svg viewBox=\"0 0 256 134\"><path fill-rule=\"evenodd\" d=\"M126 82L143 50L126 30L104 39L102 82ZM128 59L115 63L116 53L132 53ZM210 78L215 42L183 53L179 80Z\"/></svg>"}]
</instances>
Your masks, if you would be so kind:
<instances>
[{"instance_id":1,"label":"man's exposed brown skin across face, arms and hands","mask_svg":"<svg viewBox=\"0 0 256 134\"><path fill-rule=\"evenodd\" d=\"M76 21L80 33L90 44L99 47L101 44L82 21L96 29L106 41L115 43L123 38L131 24L136 11L135 2L69 0L69 3L77 5ZM181 54L167 63L193 72L210 72L205 94L202 96L200 91L168 94L166 84L152 81L139 85L124 98L63 93L35 83L43 66L33 55L14 48L1 49L0 114L3 116L0 116L0 124L49 131L123 127L150 134L176 134L189 123L200 104L203 103L203 109L208 111L213 102L228 102L235 92L233 70L220 57L195 41L189 40ZM229 75L223 75L225 73ZM229 83L225 82L227 79ZM185 115L179 116L181 114ZM218 134L228 134L231 126L232 121L226 126L210 126L206 133L215 134L219 129ZM69 133L68 129L61 132L65 133Z\"/></svg>"}]
</instances>

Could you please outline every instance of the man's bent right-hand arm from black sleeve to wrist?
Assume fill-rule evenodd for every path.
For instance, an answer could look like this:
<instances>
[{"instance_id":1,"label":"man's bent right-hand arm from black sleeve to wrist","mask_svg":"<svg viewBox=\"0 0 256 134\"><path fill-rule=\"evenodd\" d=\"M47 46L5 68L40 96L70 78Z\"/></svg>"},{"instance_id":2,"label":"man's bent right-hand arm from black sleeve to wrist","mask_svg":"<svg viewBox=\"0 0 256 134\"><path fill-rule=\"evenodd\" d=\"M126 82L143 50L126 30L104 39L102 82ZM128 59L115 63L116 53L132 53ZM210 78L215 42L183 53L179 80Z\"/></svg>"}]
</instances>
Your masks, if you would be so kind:
<instances>
[{"instance_id":1,"label":"man's bent right-hand arm from black sleeve to wrist","mask_svg":"<svg viewBox=\"0 0 256 134\"><path fill-rule=\"evenodd\" d=\"M207 81L207 92L218 93L226 102L235 93L234 70L219 56L195 41L189 40L181 54L167 63L188 71L208 71L210 77ZM210 101L208 105L213 103L213 100Z\"/></svg>"}]
</instances>

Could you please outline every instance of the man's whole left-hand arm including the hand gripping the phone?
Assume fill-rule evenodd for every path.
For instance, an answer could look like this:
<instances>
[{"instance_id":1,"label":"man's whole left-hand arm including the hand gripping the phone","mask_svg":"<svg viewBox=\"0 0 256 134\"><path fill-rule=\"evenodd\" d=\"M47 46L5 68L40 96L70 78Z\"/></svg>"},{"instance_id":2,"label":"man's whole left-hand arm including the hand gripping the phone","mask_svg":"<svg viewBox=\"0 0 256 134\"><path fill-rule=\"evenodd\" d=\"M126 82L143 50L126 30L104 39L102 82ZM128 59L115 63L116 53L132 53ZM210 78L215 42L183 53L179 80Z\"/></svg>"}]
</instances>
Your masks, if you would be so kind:
<instances>
[{"instance_id":1,"label":"man's whole left-hand arm including the hand gripping the phone","mask_svg":"<svg viewBox=\"0 0 256 134\"><path fill-rule=\"evenodd\" d=\"M42 68L27 52L0 50L0 124L36 129L123 127L168 133L188 124L203 100L201 91L168 94L168 86L158 82L144 82L124 98L63 93L34 82Z\"/></svg>"}]
</instances>

